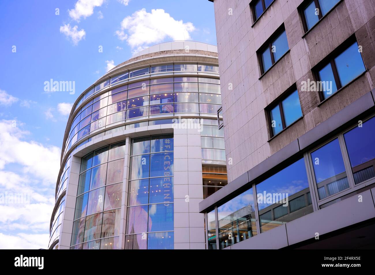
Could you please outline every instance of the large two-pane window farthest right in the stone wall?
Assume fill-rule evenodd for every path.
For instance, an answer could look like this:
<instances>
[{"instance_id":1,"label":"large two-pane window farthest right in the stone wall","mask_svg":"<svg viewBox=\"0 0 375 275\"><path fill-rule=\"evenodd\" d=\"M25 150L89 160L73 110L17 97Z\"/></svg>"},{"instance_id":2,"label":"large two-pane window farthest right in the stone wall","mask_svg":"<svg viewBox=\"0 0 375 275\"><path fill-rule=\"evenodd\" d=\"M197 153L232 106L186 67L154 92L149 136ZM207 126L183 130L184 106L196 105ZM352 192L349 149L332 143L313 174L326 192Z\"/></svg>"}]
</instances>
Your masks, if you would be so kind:
<instances>
[{"instance_id":1,"label":"large two-pane window farthest right in the stone wall","mask_svg":"<svg viewBox=\"0 0 375 275\"><path fill-rule=\"evenodd\" d=\"M317 89L323 101L366 71L357 41L319 65L316 71L321 83Z\"/></svg>"}]
</instances>

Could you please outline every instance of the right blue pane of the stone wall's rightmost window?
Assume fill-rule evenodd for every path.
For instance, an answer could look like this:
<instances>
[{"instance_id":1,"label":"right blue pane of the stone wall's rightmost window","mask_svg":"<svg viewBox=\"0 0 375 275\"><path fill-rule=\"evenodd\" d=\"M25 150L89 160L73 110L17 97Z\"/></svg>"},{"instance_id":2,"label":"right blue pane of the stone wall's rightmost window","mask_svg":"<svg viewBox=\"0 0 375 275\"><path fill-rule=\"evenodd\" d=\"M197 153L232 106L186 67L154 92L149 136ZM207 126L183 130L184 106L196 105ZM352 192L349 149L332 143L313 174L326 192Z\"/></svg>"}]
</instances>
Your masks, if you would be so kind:
<instances>
[{"instance_id":1,"label":"right blue pane of the stone wall's rightmost window","mask_svg":"<svg viewBox=\"0 0 375 275\"><path fill-rule=\"evenodd\" d=\"M357 42L336 57L335 62L341 86L347 85L366 70Z\"/></svg>"}]
</instances>

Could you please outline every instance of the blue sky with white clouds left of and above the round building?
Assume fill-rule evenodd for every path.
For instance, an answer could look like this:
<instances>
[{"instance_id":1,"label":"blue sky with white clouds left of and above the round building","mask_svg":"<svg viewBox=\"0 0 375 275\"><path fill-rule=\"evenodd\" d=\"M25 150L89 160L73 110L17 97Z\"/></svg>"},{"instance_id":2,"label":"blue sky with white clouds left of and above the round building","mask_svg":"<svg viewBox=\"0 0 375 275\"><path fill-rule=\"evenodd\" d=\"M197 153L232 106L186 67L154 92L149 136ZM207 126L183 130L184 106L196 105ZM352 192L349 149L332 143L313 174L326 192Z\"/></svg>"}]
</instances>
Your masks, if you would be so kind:
<instances>
[{"instance_id":1,"label":"blue sky with white clouds left of and above the round building","mask_svg":"<svg viewBox=\"0 0 375 275\"><path fill-rule=\"evenodd\" d=\"M17 0L0 7L0 248L46 248L71 104L147 46L216 45L213 3ZM50 79L74 81L75 94L46 92ZM14 193L27 193L30 202L1 201Z\"/></svg>"}]
</instances>

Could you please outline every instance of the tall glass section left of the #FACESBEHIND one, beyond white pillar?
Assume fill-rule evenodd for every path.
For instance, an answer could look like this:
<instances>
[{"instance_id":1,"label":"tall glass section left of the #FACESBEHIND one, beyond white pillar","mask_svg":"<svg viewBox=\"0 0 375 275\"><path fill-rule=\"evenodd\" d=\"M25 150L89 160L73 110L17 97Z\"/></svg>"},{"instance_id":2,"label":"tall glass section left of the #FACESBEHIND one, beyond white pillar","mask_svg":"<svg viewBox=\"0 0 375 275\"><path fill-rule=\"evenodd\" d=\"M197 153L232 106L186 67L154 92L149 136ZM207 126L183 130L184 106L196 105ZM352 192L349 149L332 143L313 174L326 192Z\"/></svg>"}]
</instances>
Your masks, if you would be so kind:
<instances>
[{"instance_id":1,"label":"tall glass section left of the #FACESBEHIND one, beyond white pillar","mask_svg":"<svg viewBox=\"0 0 375 275\"><path fill-rule=\"evenodd\" d=\"M81 160L71 249L115 249L121 219L125 142Z\"/></svg>"}]
</instances>

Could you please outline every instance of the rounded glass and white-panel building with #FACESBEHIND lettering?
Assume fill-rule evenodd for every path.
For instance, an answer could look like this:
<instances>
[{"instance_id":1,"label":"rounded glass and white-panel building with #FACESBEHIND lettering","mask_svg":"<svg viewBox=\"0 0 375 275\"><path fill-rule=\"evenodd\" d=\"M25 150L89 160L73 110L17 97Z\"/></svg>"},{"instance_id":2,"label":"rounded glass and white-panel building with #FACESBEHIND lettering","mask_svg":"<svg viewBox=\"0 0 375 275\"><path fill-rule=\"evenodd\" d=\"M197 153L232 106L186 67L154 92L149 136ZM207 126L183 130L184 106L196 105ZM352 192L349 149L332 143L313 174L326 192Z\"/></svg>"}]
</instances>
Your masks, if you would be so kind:
<instances>
[{"instance_id":1,"label":"rounded glass and white-panel building with #FACESBEHIND lettering","mask_svg":"<svg viewBox=\"0 0 375 275\"><path fill-rule=\"evenodd\" d=\"M66 126L50 249L204 249L227 183L217 47L161 43L102 76Z\"/></svg>"}]
</instances>

